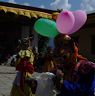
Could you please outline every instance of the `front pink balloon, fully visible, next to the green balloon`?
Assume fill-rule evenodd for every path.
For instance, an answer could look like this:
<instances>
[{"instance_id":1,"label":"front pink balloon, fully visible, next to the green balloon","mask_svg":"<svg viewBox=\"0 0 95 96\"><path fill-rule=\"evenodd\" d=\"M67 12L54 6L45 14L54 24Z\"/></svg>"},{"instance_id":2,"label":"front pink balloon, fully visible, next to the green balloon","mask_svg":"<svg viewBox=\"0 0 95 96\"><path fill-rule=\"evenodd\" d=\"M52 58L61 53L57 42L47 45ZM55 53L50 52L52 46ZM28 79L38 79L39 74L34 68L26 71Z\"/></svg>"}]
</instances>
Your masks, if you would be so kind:
<instances>
[{"instance_id":1,"label":"front pink balloon, fully visible, next to the green balloon","mask_svg":"<svg viewBox=\"0 0 95 96\"><path fill-rule=\"evenodd\" d=\"M70 30L73 28L75 18L72 12L62 11L56 20L56 26L60 33L69 34Z\"/></svg>"}]
</instances>

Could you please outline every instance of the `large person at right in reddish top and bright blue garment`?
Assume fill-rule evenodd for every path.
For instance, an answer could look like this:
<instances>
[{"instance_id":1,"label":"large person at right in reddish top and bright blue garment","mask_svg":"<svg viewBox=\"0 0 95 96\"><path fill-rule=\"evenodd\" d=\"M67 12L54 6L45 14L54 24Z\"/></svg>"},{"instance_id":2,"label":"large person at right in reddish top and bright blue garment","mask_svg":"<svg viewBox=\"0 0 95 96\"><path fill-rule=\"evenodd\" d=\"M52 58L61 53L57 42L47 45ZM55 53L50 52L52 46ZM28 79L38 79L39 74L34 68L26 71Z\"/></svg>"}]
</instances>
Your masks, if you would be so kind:
<instances>
[{"instance_id":1,"label":"large person at right in reddish top and bright blue garment","mask_svg":"<svg viewBox=\"0 0 95 96\"><path fill-rule=\"evenodd\" d=\"M57 68L64 74L60 76L63 83L59 79L61 87L57 96L94 96L95 64L78 54L78 48L69 36L58 35L55 46L60 53Z\"/></svg>"}]
</instances>

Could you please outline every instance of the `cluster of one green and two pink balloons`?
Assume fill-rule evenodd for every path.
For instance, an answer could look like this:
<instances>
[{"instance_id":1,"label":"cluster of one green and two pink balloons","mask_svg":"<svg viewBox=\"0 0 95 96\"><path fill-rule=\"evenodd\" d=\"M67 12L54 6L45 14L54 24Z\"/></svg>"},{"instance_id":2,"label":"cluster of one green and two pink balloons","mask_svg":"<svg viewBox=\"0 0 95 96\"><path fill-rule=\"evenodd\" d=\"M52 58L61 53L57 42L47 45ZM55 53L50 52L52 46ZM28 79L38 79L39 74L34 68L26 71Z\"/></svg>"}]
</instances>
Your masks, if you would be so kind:
<instances>
[{"instance_id":1,"label":"cluster of one green and two pink balloons","mask_svg":"<svg viewBox=\"0 0 95 96\"><path fill-rule=\"evenodd\" d=\"M62 11L53 13L52 19L38 19L34 24L35 31L45 37L54 38L59 33L70 35L78 31L86 22L87 14L85 11ZM56 22L55 22L56 21Z\"/></svg>"}]
</instances>

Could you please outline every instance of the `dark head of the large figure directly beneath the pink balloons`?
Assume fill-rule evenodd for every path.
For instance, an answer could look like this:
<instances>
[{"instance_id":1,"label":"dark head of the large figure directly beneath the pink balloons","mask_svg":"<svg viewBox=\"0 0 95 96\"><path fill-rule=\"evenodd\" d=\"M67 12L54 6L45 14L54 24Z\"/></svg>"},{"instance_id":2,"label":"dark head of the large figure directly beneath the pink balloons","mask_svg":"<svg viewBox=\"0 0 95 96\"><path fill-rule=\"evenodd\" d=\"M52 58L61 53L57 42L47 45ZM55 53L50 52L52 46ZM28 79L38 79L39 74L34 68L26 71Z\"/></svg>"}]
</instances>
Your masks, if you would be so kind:
<instances>
[{"instance_id":1,"label":"dark head of the large figure directly beneath the pink balloons","mask_svg":"<svg viewBox=\"0 0 95 96\"><path fill-rule=\"evenodd\" d=\"M60 53L74 53L74 42L70 36L59 34L55 37L54 43Z\"/></svg>"}]
</instances>

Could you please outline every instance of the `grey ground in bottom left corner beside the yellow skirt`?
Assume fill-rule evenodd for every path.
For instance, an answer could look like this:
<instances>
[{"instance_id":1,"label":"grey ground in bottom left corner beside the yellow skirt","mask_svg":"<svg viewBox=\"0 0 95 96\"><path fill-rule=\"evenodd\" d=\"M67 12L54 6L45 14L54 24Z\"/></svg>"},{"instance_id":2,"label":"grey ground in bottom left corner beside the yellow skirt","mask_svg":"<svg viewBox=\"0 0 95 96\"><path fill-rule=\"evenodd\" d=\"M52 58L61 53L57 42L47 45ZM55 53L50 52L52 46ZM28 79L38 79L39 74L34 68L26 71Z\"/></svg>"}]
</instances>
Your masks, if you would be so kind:
<instances>
[{"instance_id":1,"label":"grey ground in bottom left corner beside the yellow skirt","mask_svg":"<svg viewBox=\"0 0 95 96\"><path fill-rule=\"evenodd\" d=\"M15 68L0 65L0 96L10 96Z\"/></svg>"}]
</instances>

